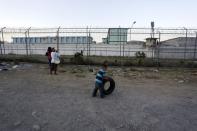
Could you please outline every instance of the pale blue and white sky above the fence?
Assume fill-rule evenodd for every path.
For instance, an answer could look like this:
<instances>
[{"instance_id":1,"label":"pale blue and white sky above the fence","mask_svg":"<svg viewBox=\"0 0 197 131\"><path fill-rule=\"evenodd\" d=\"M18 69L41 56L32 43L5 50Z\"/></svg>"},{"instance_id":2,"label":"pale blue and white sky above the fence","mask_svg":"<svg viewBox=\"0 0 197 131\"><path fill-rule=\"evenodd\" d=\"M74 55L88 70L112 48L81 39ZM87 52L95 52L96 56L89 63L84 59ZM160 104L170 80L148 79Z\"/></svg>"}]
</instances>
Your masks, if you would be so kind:
<instances>
[{"instance_id":1,"label":"pale blue and white sky above the fence","mask_svg":"<svg viewBox=\"0 0 197 131\"><path fill-rule=\"evenodd\" d=\"M197 0L0 0L0 27L197 27Z\"/></svg>"}]
</instances>

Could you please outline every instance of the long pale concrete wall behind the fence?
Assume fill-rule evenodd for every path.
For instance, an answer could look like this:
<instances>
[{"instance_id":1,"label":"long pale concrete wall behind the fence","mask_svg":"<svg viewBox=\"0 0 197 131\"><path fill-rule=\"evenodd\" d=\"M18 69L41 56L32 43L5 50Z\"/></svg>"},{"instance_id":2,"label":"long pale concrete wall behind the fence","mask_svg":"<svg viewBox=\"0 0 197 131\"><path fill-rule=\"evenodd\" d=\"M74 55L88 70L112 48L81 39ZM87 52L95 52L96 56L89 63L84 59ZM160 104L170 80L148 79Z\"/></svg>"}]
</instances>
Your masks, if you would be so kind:
<instances>
[{"instance_id":1,"label":"long pale concrete wall behind the fence","mask_svg":"<svg viewBox=\"0 0 197 131\"><path fill-rule=\"evenodd\" d=\"M28 53L44 55L48 47L57 47L56 44L30 44ZM121 48L120 48L121 47ZM61 55L74 55L76 52L84 51L84 55L89 50L87 44L60 44ZM9 54L26 54L26 44L5 44L5 53ZM124 50L124 53L123 53ZM143 51L147 57L152 57L154 52L152 49L144 48L142 45L109 45L109 44L90 44L90 55L98 56L135 56L137 51Z\"/></svg>"}]
</instances>

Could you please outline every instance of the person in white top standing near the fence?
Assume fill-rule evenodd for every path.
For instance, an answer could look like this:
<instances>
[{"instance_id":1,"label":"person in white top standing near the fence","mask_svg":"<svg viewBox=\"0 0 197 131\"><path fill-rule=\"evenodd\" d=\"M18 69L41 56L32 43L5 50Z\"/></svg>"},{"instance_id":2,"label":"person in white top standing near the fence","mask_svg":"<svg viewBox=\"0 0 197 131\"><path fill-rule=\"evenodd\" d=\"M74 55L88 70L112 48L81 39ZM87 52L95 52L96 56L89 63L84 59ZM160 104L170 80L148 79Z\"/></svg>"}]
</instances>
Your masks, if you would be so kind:
<instances>
[{"instance_id":1,"label":"person in white top standing near the fence","mask_svg":"<svg viewBox=\"0 0 197 131\"><path fill-rule=\"evenodd\" d=\"M60 63L60 54L58 53L58 51L55 51L55 48L52 49L51 52L51 70L50 70L50 74L52 74L52 72L54 71L55 74L57 74L57 65Z\"/></svg>"}]
</instances>

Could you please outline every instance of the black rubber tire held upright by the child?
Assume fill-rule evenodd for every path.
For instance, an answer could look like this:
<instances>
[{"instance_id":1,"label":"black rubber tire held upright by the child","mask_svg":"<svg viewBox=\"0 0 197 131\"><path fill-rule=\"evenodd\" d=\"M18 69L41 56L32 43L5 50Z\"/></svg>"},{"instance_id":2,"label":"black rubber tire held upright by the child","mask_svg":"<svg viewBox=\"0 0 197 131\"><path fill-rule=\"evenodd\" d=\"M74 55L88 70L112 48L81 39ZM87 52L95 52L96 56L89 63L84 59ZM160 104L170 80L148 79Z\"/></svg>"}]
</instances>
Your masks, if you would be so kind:
<instances>
[{"instance_id":1,"label":"black rubber tire held upright by the child","mask_svg":"<svg viewBox=\"0 0 197 131\"><path fill-rule=\"evenodd\" d=\"M114 91L114 89L115 89L115 81L111 77L107 77L107 78L108 78L108 80L105 80L105 79L103 80L103 84L105 86L105 84L107 82L110 82L110 86L107 89L104 88L104 94L105 95L111 94Z\"/></svg>"}]
</instances>

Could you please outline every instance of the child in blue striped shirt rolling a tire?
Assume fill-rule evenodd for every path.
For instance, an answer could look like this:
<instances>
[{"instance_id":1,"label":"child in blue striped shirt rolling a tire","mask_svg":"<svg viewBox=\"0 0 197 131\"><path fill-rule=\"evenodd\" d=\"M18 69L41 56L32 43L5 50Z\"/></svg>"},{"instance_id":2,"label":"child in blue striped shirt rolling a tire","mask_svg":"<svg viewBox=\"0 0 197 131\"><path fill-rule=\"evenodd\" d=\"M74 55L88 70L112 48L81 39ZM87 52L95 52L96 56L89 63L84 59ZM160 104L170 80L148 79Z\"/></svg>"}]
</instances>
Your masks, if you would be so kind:
<instances>
[{"instance_id":1,"label":"child in blue striped shirt rolling a tire","mask_svg":"<svg viewBox=\"0 0 197 131\"><path fill-rule=\"evenodd\" d=\"M105 94L104 94L104 83L103 83L103 80L107 79L105 77L107 67L108 67L107 61L105 61L103 63L103 65L102 65L102 68L99 70L99 72L96 75L95 88L93 90L92 97L95 97L96 94L97 94L97 90L99 90L100 97L104 98Z\"/></svg>"}]
</instances>

